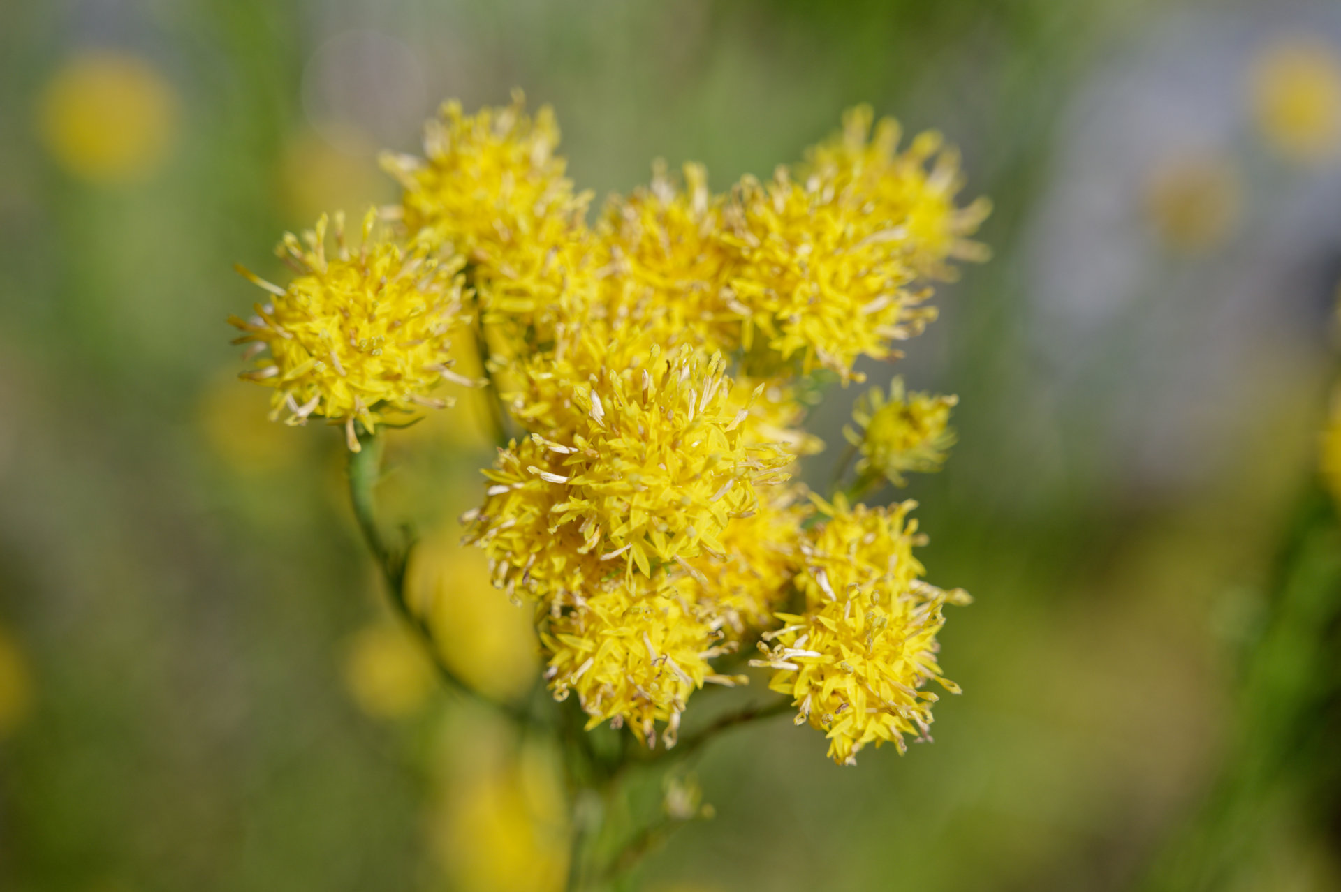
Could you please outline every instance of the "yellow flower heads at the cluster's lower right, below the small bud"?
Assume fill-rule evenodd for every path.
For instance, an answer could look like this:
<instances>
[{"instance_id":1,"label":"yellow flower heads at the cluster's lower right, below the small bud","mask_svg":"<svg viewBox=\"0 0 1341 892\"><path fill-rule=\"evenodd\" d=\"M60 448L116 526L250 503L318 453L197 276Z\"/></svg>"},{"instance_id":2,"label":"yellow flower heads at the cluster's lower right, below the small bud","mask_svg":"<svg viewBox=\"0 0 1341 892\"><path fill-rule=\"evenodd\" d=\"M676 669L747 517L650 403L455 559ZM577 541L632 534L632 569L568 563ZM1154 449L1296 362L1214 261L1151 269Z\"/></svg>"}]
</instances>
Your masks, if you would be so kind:
<instances>
[{"instance_id":1,"label":"yellow flower heads at the cluster's lower right, below the small bud","mask_svg":"<svg viewBox=\"0 0 1341 892\"><path fill-rule=\"evenodd\" d=\"M912 549L924 537L907 520L913 502L815 504L829 520L806 530L801 545L806 612L779 613L786 625L764 635L774 644L751 666L776 670L770 687L793 698L797 723L825 731L829 757L852 765L868 743L893 742L904 751L904 734L929 739L937 698L919 688L936 679L959 692L941 676L936 634L941 607L968 596L919 579L923 567Z\"/></svg>"}]
</instances>

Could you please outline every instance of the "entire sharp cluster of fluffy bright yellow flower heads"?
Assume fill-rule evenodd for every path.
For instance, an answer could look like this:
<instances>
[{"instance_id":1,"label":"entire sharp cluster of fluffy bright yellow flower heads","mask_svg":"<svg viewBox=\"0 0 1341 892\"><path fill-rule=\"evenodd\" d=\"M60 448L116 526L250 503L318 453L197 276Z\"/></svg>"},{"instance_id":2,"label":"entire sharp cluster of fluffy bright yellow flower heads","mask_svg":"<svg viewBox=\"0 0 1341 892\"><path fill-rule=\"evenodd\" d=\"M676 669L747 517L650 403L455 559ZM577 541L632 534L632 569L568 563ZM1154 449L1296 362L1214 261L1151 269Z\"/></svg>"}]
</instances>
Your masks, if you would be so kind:
<instances>
[{"instance_id":1,"label":"entire sharp cluster of fluffy bright yellow flower heads","mask_svg":"<svg viewBox=\"0 0 1341 892\"><path fill-rule=\"evenodd\" d=\"M932 285L987 213L956 204L957 157L923 134L850 111L842 131L767 182L724 193L701 165L664 163L648 186L587 217L557 154L548 108L520 95L465 115L448 103L425 157L388 155L401 182L385 240L357 256L283 248L299 279L236 324L270 347L248 375L295 419L371 433L430 402L469 327L498 399L500 447L465 540L492 581L528 605L558 699L589 726L675 743L689 698L754 666L850 762L868 743L927 737L941 607L921 542L892 509L814 497L798 463L822 384L862 380L935 311ZM469 383L461 379L464 383ZM873 395L848 431L852 494L939 469L953 398ZM355 425L358 427L355 427Z\"/></svg>"}]
</instances>

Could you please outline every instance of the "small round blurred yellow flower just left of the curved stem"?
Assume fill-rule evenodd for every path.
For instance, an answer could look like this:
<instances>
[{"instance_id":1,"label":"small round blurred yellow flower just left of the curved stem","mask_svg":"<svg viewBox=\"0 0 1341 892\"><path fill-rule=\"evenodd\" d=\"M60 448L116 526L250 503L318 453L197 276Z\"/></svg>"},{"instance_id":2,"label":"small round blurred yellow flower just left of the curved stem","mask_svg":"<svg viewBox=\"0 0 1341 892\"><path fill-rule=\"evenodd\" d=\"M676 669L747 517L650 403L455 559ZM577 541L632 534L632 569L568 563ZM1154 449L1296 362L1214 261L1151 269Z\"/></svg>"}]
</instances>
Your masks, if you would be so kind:
<instances>
[{"instance_id":1,"label":"small round blurred yellow flower just left of the curved stem","mask_svg":"<svg viewBox=\"0 0 1341 892\"><path fill-rule=\"evenodd\" d=\"M437 676L422 644L400 625L378 621L350 642L345 684L369 715L401 718L424 704Z\"/></svg>"}]
</instances>

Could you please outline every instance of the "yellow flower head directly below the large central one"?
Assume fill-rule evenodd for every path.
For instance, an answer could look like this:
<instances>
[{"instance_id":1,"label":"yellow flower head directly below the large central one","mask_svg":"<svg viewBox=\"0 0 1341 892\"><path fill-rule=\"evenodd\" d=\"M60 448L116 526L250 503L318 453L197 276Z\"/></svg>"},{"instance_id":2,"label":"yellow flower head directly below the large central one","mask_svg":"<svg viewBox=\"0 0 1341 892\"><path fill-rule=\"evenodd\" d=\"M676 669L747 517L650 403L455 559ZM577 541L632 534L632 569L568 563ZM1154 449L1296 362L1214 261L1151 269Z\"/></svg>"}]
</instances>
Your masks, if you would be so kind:
<instances>
[{"instance_id":1,"label":"yellow flower head directly below the large central one","mask_svg":"<svg viewBox=\"0 0 1341 892\"><path fill-rule=\"evenodd\" d=\"M711 617L664 576L624 579L554 609L540 638L555 696L577 691L589 730L613 719L648 746L654 722L666 722L662 742L673 746L685 702L709 680L708 659L719 652Z\"/></svg>"}]
</instances>

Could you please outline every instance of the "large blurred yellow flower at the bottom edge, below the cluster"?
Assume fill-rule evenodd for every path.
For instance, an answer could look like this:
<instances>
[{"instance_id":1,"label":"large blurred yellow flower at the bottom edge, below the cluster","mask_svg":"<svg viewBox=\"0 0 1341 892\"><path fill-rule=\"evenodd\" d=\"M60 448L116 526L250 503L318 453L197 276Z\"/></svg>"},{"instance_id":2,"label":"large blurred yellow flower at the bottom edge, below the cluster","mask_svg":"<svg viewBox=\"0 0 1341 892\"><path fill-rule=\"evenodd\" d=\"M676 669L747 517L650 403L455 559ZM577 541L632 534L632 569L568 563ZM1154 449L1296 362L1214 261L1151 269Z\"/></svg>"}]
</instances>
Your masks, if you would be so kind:
<instances>
[{"instance_id":1,"label":"large blurred yellow flower at the bottom edge, below the cluster","mask_svg":"<svg viewBox=\"0 0 1341 892\"><path fill-rule=\"evenodd\" d=\"M516 759L457 758L432 833L452 888L557 892L567 872L563 786L544 750Z\"/></svg>"}]
</instances>

